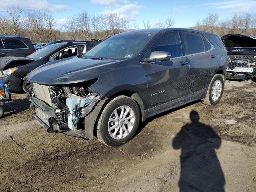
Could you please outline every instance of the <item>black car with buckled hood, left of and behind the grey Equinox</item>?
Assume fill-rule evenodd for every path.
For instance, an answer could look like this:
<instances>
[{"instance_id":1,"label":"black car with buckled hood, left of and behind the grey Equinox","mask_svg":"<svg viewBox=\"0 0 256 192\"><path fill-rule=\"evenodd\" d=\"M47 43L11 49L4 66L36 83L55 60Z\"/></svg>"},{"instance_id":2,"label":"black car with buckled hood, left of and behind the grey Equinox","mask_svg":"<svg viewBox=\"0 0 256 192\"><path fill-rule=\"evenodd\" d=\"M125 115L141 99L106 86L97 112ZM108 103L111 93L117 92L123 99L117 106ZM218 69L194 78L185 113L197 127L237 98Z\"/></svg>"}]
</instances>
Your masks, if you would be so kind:
<instances>
[{"instance_id":1,"label":"black car with buckled hood, left of and behind the grey Equinox","mask_svg":"<svg viewBox=\"0 0 256 192\"><path fill-rule=\"evenodd\" d=\"M96 44L98 41L62 42L51 44L27 57L0 58L0 80L11 92L23 90L28 93L32 90L26 77L29 72L54 60L82 55Z\"/></svg>"}]
</instances>

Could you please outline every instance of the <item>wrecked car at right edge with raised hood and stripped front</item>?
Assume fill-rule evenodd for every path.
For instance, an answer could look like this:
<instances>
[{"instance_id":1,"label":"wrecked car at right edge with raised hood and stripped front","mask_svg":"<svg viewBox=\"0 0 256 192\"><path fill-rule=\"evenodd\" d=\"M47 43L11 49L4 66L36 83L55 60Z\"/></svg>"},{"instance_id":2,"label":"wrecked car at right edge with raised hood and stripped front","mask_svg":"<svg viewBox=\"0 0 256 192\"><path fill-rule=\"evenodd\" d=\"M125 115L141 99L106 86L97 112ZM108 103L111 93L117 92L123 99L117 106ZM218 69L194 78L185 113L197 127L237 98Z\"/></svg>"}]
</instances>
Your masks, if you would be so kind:
<instances>
[{"instance_id":1,"label":"wrecked car at right edge with raised hood and stripped front","mask_svg":"<svg viewBox=\"0 0 256 192\"><path fill-rule=\"evenodd\" d=\"M241 34L222 37L228 50L227 78L246 80L256 78L256 38Z\"/></svg>"}]
</instances>

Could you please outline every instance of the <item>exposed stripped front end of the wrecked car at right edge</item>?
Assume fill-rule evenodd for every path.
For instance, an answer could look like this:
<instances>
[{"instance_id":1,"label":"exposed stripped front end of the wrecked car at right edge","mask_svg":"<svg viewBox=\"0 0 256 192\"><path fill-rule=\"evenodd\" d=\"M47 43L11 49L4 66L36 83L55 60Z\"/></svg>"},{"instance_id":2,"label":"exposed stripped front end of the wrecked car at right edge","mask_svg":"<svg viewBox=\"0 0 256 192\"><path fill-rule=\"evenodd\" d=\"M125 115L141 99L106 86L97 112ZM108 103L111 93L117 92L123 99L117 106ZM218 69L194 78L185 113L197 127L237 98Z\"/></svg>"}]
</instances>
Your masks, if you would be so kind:
<instances>
[{"instance_id":1,"label":"exposed stripped front end of the wrecked car at right edge","mask_svg":"<svg viewBox=\"0 0 256 192\"><path fill-rule=\"evenodd\" d=\"M227 78L256 78L256 56L230 54L229 60Z\"/></svg>"}]
</instances>

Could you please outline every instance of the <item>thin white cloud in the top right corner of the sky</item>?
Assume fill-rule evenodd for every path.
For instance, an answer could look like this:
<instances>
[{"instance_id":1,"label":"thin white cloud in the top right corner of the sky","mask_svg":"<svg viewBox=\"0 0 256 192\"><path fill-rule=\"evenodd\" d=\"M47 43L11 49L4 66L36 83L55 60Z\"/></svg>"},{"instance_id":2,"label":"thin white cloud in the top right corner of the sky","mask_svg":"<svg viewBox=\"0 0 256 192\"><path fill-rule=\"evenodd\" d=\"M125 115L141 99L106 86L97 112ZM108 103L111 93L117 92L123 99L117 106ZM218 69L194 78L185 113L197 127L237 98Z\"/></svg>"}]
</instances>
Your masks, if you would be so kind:
<instances>
[{"instance_id":1,"label":"thin white cloud in the top right corner of the sky","mask_svg":"<svg viewBox=\"0 0 256 192\"><path fill-rule=\"evenodd\" d=\"M200 6L210 6L215 9L231 9L233 12L256 12L255 0L233 0L215 3L201 4Z\"/></svg>"}]
</instances>

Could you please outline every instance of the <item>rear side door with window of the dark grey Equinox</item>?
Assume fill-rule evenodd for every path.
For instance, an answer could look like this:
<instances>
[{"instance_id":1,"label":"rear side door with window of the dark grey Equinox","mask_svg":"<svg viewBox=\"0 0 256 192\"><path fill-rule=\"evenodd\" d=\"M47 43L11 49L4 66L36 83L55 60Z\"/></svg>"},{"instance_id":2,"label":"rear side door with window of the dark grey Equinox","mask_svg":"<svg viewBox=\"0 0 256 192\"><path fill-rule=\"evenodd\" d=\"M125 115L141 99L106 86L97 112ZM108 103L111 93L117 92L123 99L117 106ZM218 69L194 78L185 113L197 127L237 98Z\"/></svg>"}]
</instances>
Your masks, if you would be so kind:
<instances>
[{"instance_id":1,"label":"rear side door with window of the dark grey Equinox","mask_svg":"<svg viewBox=\"0 0 256 192\"><path fill-rule=\"evenodd\" d=\"M190 64L189 92L208 87L212 75L218 69L218 56L210 42L196 32L182 32L186 56Z\"/></svg>"}]
</instances>

